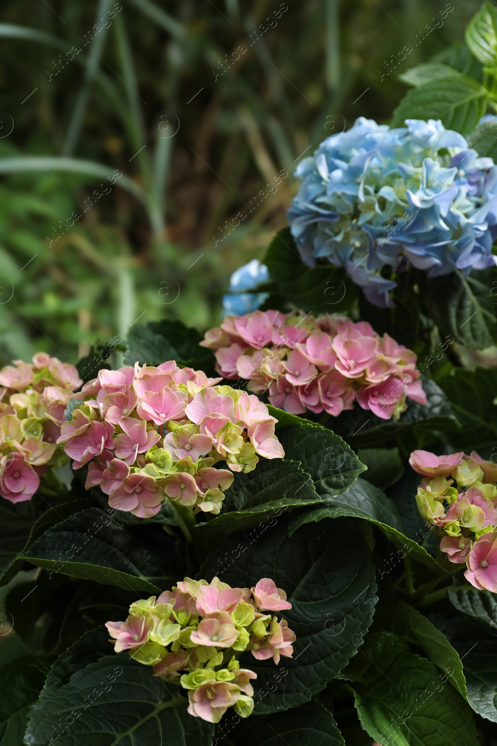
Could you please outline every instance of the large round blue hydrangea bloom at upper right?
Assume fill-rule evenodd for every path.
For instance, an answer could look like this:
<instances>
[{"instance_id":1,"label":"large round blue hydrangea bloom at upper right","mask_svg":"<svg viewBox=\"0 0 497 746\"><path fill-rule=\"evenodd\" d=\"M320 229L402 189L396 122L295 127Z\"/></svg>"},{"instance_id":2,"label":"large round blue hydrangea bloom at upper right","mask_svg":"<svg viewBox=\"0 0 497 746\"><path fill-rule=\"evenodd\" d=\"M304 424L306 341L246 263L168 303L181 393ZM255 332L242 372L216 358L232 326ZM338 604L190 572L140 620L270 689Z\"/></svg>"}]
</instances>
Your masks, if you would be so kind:
<instances>
[{"instance_id":1,"label":"large round blue hydrangea bloom at upper right","mask_svg":"<svg viewBox=\"0 0 497 746\"><path fill-rule=\"evenodd\" d=\"M440 120L390 129L359 117L324 140L295 175L288 223L303 261L344 266L367 299L393 307L381 270L411 263L428 277L497 263L497 166Z\"/></svg>"}]
</instances>

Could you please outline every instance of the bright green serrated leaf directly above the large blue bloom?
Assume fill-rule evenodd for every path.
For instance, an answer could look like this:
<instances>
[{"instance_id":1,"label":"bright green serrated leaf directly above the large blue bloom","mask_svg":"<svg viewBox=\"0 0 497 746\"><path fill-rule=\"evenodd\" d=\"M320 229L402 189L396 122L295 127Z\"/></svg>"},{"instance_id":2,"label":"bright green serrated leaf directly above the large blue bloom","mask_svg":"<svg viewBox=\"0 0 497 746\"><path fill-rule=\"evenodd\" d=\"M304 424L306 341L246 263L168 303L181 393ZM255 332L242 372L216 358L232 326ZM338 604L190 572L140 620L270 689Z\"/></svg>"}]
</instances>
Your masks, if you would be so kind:
<instances>
[{"instance_id":1,"label":"bright green serrated leaf directly above the large blue bloom","mask_svg":"<svg viewBox=\"0 0 497 746\"><path fill-rule=\"evenodd\" d=\"M487 101L481 84L454 71L409 90L393 112L391 126L402 127L405 119L441 119L447 129L467 134L484 115Z\"/></svg>"}]
</instances>

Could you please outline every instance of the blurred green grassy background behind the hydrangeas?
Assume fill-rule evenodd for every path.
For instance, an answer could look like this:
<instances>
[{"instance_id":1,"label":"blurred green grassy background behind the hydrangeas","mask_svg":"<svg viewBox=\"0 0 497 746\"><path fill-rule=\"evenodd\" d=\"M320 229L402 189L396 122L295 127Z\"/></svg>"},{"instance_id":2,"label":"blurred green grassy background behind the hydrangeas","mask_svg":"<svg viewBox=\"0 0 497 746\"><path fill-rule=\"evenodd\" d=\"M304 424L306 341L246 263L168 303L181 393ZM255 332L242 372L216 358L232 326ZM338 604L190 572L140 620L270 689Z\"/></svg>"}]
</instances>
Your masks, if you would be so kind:
<instances>
[{"instance_id":1,"label":"blurred green grassy background behind the hydrangeas","mask_svg":"<svg viewBox=\"0 0 497 746\"><path fill-rule=\"evenodd\" d=\"M397 75L479 4L4 0L0 364L74 362L138 319L215 325L231 272L285 225L302 154L389 122Z\"/></svg>"}]
</instances>

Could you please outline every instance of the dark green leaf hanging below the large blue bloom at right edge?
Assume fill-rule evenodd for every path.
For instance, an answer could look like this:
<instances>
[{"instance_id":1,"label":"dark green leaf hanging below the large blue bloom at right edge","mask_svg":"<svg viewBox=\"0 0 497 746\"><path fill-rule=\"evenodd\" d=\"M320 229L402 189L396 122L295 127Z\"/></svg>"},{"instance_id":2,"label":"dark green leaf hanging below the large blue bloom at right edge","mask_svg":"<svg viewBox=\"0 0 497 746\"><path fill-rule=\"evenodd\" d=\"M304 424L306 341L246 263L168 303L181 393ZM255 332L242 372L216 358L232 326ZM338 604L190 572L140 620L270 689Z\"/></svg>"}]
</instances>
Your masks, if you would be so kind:
<instances>
[{"instance_id":1,"label":"dark green leaf hanging below the large blue bloom at right edge","mask_svg":"<svg viewBox=\"0 0 497 746\"><path fill-rule=\"evenodd\" d=\"M491 292L496 276L493 269L483 269L463 278L457 270L422 280L422 303L442 336L452 336L455 342L475 350L493 345L497 306Z\"/></svg>"}]
</instances>

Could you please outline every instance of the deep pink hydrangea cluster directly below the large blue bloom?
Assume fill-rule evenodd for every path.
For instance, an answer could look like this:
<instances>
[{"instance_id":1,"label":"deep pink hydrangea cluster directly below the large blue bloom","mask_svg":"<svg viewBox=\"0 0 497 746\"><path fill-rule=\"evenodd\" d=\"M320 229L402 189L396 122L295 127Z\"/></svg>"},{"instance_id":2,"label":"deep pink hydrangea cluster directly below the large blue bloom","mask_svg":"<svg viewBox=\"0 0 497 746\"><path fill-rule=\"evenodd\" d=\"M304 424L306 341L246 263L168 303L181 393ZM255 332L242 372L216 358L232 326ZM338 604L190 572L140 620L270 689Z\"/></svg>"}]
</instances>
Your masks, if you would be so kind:
<instances>
[{"instance_id":1,"label":"deep pink hydrangea cluster directly below the large blue bloom","mask_svg":"<svg viewBox=\"0 0 497 746\"><path fill-rule=\"evenodd\" d=\"M225 378L245 378L273 407L338 416L356 399L382 419L399 418L406 396L426 404L416 355L388 334L346 316L254 311L227 316L200 342Z\"/></svg>"}]
</instances>

